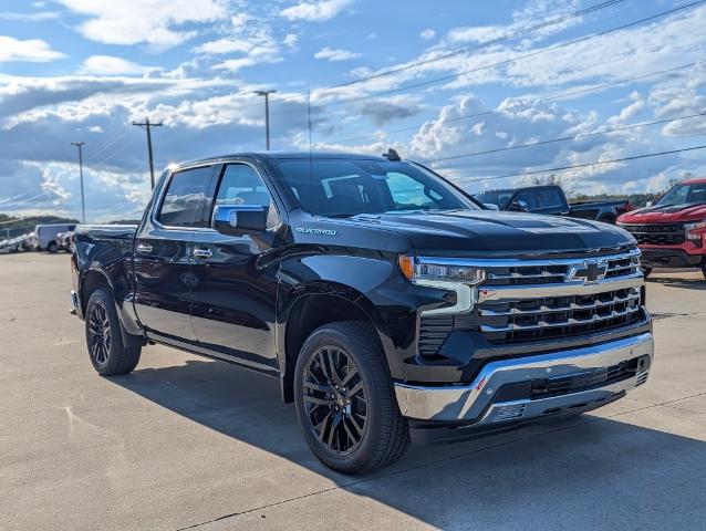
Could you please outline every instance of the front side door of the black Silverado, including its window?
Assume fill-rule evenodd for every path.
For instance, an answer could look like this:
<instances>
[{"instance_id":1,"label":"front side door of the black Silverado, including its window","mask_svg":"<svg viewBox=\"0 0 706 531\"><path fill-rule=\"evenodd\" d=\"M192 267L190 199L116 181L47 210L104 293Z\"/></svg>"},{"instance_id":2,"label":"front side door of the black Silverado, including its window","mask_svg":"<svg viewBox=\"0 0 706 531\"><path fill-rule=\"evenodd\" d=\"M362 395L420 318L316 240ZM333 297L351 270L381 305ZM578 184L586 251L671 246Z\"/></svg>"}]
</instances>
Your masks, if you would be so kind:
<instances>
[{"instance_id":1,"label":"front side door of the black Silverado, including its window","mask_svg":"<svg viewBox=\"0 0 706 531\"><path fill-rule=\"evenodd\" d=\"M261 235L226 236L201 231L194 240L191 323L199 344L258 368L276 368L274 249L282 225L270 190L247 163L222 166L215 205L259 205L267 209ZM212 211L212 209L211 209Z\"/></svg>"}]
</instances>

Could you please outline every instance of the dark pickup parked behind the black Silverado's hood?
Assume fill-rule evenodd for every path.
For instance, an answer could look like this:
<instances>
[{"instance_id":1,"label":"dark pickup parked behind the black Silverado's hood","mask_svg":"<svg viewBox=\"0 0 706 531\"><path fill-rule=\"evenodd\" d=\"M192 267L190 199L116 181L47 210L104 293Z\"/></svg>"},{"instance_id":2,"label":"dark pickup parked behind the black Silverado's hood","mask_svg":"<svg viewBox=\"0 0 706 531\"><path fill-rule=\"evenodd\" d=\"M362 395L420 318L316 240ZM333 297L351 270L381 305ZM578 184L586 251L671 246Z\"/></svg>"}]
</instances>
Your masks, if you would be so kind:
<instances>
[{"instance_id":1,"label":"dark pickup parked behind the black Silverado's hood","mask_svg":"<svg viewBox=\"0 0 706 531\"><path fill-rule=\"evenodd\" d=\"M629 200L570 204L558 185L486 190L476 194L474 198L484 205L496 205L500 210L569 216L604 223L615 223L619 216L633 209Z\"/></svg>"}]
</instances>

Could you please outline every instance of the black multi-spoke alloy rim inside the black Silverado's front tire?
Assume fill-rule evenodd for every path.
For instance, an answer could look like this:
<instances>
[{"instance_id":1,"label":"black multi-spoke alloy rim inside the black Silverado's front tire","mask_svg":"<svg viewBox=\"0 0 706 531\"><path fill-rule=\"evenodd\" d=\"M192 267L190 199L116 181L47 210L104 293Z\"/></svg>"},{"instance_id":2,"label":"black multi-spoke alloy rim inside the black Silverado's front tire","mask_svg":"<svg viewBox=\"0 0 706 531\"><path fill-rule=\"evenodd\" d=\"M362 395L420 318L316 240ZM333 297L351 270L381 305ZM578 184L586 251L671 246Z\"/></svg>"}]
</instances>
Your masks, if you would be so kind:
<instances>
[{"instance_id":1,"label":"black multi-spoke alloy rim inside the black Silverado's front tire","mask_svg":"<svg viewBox=\"0 0 706 531\"><path fill-rule=\"evenodd\" d=\"M367 397L351 357L333 345L320 347L304 373L304 405L309 428L330 452L346 455L363 439Z\"/></svg>"}]
</instances>

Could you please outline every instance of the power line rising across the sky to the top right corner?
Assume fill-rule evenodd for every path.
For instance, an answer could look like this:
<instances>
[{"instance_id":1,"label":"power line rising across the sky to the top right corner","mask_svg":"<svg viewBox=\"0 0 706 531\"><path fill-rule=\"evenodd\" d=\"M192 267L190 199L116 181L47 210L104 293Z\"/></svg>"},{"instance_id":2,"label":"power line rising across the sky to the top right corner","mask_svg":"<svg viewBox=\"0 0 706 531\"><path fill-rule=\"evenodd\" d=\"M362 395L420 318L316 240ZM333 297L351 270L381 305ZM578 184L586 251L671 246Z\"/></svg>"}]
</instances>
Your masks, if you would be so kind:
<instances>
[{"instance_id":1,"label":"power line rising across the sky to the top right corner","mask_svg":"<svg viewBox=\"0 0 706 531\"><path fill-rule=\"evenodd\" d=\"M435 77L433 80L427 80L427 81L415 83L415 84L411 84L411 85L404 85L404 86L399 86L399 87L396 87L396 88L390 88L390 90L386 90L386 91L380 91L380 92L376 92L376 93L373 93L373 94L367 94L367 95L364 95L364 96L355 96L355 97L338 100L335 102L331 102L331 103L328 103L328 104L316 105L315 107L323 108L323 107L330 107L330 106L334 106L334 105L342 105L342 104L345 104L345 103L360 102L360 101L370 100L370 98L373 98L373 97L378 97L378 96L383 96L383 95L387 95L387 94L395 94L395 93L398 93L398 92L406 92L406 91L409 91L409 90L413 90L413 88L421 88L421 87L434 85L436 83L440 83L440 82L444 82L444 81L450 81L453 79L457 79L457 77L460 77L463 75L467 75L467 74L471 74L471 73L476 73L476 72L481 72L484 70L488 70L488 69L492 69L492 67L497 67L497 66L503 66L503 65L507 65L507 64L515 63L517 61L521 61L523 59L534 58L537 55L541 55L541 54L547 53L547 52L557 51L557 50L560 50L560 49L563 49L563 48L571 46L573 44L581 43L581 42L588 42L590 40L598 39L598 38L601 38L601 37L605 37L608 34L614 33L616 31L625 30L627 28L633 28L635 25L640 25L640 24L643 24L645 22L657 20L660 18L676 13L678 11L683 11L685 9L689 9L689 8L694 8L696 6L700 6L700 4L705 3L705 2L706 2L706 0L697 0L697 1L694 1L694 2L689 2L689 3L686 3L686 4L679 6L677 8L673 8L673 9L669 9L667 11L662 11L662 12L653 14L651 17L646 17L644 19L640 19L640 20L636 20L636 21L633 21L633 22L629 22L626 24L621 24L621 25L619 25L616 28L611 28L609 30L604 30L604 31L601 31L601 32L598 32L598 33L592 33L590 35L580 37L580 38L574 39L572 41L561 42L559 44L554 44L552 46L548 46L548 48L544 48L542 50L537 50L534 52L517 55L515 58L506 59L503 61L499 61L499 62L496 62L496 63L490 63L490 64L486 64L486 65L482 65L482 66L477 66L475 69L470 69L470 70L466 70L466 71L461 71L461 72L456 72L454 74L444 75L442 77ZM289 114L289 113L291 113L291 111L281 112L281 113L278 113L278 114ZM272 114L274 114L274 113L272 113Z\"/></svg>"}]
</instances>

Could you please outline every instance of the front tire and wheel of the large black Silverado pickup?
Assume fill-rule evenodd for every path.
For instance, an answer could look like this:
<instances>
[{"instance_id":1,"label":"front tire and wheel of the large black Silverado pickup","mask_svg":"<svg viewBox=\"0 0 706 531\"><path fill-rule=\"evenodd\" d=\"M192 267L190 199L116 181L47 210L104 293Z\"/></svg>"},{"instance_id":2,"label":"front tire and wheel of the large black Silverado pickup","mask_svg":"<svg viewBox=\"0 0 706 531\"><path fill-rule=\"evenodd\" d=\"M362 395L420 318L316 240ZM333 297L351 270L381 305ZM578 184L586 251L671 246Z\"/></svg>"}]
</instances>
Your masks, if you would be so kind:
<instances>
[{"instance_id":1,"label":"front tire and wheel of the large black Silverado pickup","mask_svg":"<svg viewBox=\"0 0 706 531\"><path fill-rule=\"evenodd\" d=\"M387 361L367 323L315 330L294 369L294 402L304 439L329 468L362 473L392 465L409 442Z\"/></svg>"}]
</instances>

